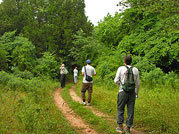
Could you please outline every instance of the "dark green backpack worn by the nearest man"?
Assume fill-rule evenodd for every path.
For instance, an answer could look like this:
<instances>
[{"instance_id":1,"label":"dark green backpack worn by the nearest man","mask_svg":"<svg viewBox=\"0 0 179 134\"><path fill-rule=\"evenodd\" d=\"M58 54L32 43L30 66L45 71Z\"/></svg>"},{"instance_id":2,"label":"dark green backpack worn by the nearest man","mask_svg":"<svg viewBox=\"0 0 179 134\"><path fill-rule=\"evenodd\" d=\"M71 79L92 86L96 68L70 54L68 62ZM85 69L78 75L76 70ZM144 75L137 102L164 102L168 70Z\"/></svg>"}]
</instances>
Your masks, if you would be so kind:
<instances>
[{"instance_id":1,"label":"dark green backpack worn by the nearest man","mask_svg":"<svg viewBox=\"0 0 179 134\"><path fill-rule=\"evenodd\" d=\"M125 66L127 68L127 78L126 81L124 82L124 84L122 84L122 89L126 92L126 93L131 93L135 91L135 82L134 82L134 74L132 71L133 67L128 67Z\"/></svg>"}]
</instances>

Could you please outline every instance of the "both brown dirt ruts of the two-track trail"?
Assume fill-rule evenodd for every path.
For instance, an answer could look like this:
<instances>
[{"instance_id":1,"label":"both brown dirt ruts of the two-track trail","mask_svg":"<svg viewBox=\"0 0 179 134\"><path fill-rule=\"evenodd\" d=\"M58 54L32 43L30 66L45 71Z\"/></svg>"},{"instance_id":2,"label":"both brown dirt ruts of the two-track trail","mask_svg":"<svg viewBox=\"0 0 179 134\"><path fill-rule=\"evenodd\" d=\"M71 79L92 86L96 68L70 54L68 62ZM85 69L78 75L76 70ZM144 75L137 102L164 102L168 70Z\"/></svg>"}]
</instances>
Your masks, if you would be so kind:
<instances>
[{"instance_id":1,"label":"both brown dirt ruts of the two-track trail","mask_svg":"<svg viewBox=\"0 0 179 134\"><path fill-rule=\"evenodd\" d=\"M61 90L62 89L59 88L54 92L54 102L56 106L59 108L59 110L62 112L62 114L65 116L65 118L75 128L75 130L80 134L98 134L94 129L90 127L89 124L85 123L68 106L68 104L64 101L64 99L60 95ZM72 86L72 88L70 89L70 95L74 101L79 102L79 103L82 102L82 99L75 92L75 86ZM94 109L92 106L87 106L87 108L89 108L96 116L106 117L107 120L116 122L116 120L111 119L109 115L104 114L103 112ZM143 134L143 132L137 131L131 128L131 134Z\"/></svg>"}]
</instances>

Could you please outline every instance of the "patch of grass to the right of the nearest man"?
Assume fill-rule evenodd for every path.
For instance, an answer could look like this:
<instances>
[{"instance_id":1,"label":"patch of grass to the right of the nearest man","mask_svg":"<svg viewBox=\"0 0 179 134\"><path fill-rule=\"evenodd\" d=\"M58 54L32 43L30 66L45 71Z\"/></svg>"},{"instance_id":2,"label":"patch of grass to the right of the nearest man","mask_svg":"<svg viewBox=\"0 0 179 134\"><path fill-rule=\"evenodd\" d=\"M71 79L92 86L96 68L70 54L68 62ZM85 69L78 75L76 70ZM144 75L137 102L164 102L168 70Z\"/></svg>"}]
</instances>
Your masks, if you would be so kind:
<instances>
[{"instance_id":1,"label":"patch of grass to the right of the nearest man","mask_svg":"<svg viewBox=\"0 0 179 134\"><path fill-rule=\"evenodd\" d=\"M152 133L179 133L179 92L164 87L143 86L136 104L136 122Z\"/></svg>"}]
</instances>

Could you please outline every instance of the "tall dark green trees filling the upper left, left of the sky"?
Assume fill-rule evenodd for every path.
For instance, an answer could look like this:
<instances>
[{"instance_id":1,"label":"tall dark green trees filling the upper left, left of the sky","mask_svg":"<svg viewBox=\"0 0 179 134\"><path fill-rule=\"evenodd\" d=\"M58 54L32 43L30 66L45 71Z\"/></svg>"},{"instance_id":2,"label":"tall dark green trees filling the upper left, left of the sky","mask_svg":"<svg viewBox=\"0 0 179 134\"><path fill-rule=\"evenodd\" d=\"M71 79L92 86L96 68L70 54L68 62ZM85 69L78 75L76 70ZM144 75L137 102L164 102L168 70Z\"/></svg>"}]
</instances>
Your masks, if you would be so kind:
<instances>
[{"instance_id":1,"label":"tall dark green trees filling the upper left, left of the sky","mask_svg":"<svg viewBox=\"0 0 179 134\"><path fill-rule=\"evenodd\" d=\"M84 8L84 0L4 0L0 4L0 36L16 30L16 35L34 44L37 57L49 51L58 62L59 57L69 62L73 34L83 29L89 35L93 28Z\"/></svg>"}]
</instances>

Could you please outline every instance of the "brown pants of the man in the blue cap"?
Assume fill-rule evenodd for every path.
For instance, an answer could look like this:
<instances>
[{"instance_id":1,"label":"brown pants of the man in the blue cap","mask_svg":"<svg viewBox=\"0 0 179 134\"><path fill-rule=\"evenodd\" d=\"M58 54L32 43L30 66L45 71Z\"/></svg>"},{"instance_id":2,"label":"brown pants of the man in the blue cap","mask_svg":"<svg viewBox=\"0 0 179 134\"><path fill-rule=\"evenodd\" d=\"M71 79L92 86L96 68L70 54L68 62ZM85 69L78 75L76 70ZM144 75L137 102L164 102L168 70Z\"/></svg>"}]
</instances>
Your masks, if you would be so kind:
<instances>
[{"instance_id":1,"label":"brown pants of the man in the blue cap","mask_svg":"<svg viewBox=\"0 0 179 134\"><path fill-rule=\"evenodd\" d=\"M93 92L93 83L83 83L81 87L81 96L82 99L85 100L85 93L88 90L88 103L91 102L91 95Z\"/></svg>"}]
</instances>

